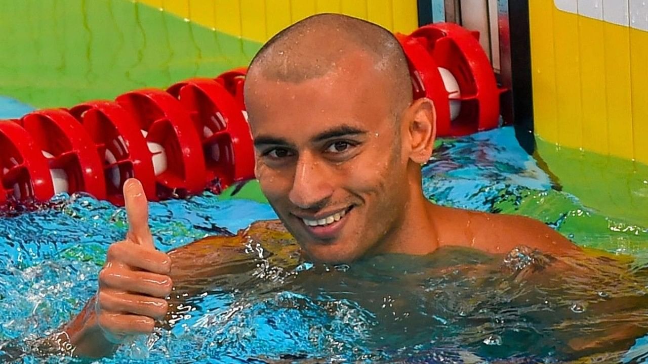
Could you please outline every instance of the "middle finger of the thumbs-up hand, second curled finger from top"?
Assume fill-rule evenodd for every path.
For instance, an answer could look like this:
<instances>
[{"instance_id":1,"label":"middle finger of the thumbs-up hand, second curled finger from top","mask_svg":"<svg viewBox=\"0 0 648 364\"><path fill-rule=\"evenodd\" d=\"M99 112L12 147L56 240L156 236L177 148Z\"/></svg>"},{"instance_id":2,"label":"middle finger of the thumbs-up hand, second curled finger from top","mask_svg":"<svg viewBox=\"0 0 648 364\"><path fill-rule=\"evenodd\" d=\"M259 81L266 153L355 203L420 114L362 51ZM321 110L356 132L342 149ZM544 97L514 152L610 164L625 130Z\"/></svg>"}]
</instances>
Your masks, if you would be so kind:
<instances>
[{"instance_id":1,"label":"middle finger of the thumbs-up hand, second curled finger from top","mask_svg":"<svg viewBox=\"0 0 648 364\"><path fill-rule=\"evenodd\" d=\"M167 275L132 271L130 269L102 269L99 272L100 287L107 286L120 291L142 293L165 298L171 293L173 282Z\"/></svg>"}]
</instances>

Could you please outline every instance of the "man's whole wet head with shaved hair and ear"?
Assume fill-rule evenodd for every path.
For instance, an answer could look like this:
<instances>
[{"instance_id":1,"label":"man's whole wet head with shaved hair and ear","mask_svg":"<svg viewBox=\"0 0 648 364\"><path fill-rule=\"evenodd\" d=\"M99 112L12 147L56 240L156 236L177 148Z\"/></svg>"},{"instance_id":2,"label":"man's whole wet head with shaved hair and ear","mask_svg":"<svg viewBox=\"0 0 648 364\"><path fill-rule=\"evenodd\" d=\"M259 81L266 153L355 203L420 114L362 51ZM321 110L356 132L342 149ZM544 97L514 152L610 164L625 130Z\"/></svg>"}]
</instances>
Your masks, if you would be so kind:
<instances>
[{"instance_id":1,"label":"man's whole wet head with shaved hair and ear","mask_svg":"<svg viewBox=\"0 0 648 364\"><path fill-rule=\"evenodd\" d=\"M393 35L353 17L309 17L259 51L245 95L260 186L305 253L349 262L399 251L422 203L434 111L413 102Z\"/></svg>"}]
</instances>

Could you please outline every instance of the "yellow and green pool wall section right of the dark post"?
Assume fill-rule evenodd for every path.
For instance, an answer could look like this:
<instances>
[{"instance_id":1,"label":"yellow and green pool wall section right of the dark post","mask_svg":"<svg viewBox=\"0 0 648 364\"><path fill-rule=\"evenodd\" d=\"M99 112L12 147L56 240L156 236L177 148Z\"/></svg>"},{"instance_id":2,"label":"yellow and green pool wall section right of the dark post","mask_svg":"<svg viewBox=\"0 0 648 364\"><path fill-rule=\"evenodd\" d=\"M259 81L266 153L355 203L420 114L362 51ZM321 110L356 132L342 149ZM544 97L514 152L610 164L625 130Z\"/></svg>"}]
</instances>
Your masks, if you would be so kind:
<instances>
[{"instance_id":1,"label":"yellow and green pool wall section right of the dark post","mask_svg":"<svg viewBox=\"0 0 648 364\"><path fill-rule=\"evenodd\" d=\"M537 152L584 205L648 214L648 5L529 1Z\"/></svg>"}]
</instances>

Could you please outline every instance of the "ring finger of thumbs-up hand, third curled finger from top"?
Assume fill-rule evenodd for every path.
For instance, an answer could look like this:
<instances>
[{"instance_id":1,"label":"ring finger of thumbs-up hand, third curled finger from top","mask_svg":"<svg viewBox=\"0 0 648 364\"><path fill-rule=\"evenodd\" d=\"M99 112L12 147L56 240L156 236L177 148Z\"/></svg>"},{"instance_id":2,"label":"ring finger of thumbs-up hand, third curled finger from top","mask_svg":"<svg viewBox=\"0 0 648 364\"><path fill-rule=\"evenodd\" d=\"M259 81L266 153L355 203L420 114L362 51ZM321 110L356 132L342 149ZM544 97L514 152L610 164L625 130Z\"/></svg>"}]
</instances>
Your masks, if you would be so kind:
<instances>
[{"instance_id":1,"label":"ring finger of thumbs-up hand, third curled finger from top","mask_svg":"<svg viewBox=\"0 0 648 364\"><path fill-rule=\"evenodd\" d=\"M102 290L97 295L97 304L101 310L129 313L161 319L167 315L168 303L165 299L132 293L119 293Z\"/></svg>"}]
</instances>

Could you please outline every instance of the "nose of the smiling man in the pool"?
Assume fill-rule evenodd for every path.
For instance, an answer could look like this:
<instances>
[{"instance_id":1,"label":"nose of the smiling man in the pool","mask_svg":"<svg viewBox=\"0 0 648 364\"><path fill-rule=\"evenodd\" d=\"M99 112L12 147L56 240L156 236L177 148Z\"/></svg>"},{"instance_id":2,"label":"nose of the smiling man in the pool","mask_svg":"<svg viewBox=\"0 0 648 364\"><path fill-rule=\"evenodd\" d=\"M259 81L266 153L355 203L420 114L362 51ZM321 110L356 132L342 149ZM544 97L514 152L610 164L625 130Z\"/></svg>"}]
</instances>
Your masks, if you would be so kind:
<instances>
[{"instance_id":1,"label":"nose of the smiling man in the pool","mask_svg":"<svg viewBox=\"0 0 648 364\"><path fill-rule=\"evenodd\" d=\"M326 163L309 153L300 154L288 194L290 202L305 210L323 207L333 193L332 176L328 172Z\"/></svg>"}]
</instances>

